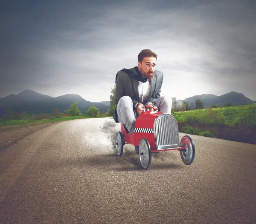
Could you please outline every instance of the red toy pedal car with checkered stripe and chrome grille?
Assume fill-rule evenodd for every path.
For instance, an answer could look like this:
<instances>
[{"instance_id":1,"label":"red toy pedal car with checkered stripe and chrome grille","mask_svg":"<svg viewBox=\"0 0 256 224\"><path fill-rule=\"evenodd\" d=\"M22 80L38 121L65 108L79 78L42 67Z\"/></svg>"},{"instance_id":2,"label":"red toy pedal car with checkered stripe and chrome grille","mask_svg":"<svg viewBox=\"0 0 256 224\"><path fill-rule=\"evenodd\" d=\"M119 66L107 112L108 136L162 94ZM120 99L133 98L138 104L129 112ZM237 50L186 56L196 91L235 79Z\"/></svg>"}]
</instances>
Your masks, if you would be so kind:
<instances>
[{"instance_id":1,"label":"red toy pedal car with checkered stripe and chrome grille","mask_svg":"<svg viewBox=\"0 0 256 224\"><path fill-rule=\"evenodd\" d=\"M190 165L195 158L195 145L192 139L185 135L179 141L178 123L174 116L145 111L136 120L135 131L128 134L121 123L121 132L116 133L116 154L121 156L125 144L139 147L140 164L148 169L151 164L151 153L178 150L184 164Z\"/></svg>"}]
</instances>

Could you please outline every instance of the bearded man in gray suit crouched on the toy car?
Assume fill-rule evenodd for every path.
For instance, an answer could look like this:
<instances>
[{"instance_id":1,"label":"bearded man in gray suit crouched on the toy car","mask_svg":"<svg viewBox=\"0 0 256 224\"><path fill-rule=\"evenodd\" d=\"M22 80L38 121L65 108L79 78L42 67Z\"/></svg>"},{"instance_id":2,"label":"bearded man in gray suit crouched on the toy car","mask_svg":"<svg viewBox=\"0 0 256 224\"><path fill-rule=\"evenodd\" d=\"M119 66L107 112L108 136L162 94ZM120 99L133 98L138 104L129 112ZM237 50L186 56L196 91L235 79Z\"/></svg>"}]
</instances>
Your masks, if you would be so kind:
<instances>
[{"instance_id":1,"label":"bearded man in gray suit crouched on the toy car","mask_svg":"<svg viewBox=\"0 0 256 224\"><path fill-rule=\"evenodd\" d=\"M121 122L134 132L136 118L146 109L171 113L172 99L160 97L163 73L155 70L157 55L150 49L138 55L138 66L122 69L116 74L116 123Z\"/></svg>"}]
</instances>

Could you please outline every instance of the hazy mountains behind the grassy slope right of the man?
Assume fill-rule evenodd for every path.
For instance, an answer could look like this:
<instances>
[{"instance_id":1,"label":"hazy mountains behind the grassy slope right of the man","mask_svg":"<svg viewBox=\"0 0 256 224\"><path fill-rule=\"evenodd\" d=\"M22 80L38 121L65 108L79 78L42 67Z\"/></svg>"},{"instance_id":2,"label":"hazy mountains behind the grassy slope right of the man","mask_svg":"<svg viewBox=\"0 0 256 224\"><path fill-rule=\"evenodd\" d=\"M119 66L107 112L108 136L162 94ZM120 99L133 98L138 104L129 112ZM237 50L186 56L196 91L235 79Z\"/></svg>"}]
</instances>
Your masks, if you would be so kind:
<instances>
[{"instance_id":1,"label":"hazy mountains behind the grassy slope right of the man","mask_svg":"<svg viewBox=\"0 0 256 224\"><path fill-rule=\"evenodd\" d=\"M230 92L221 96L216 96L213 94L202 94L186 98L184 101L187 101L190 108L194 109L195 100L197 98L201 99L201 101L204 103L204 108L211 107L212 104L217 106L225 106L225 104L228 102L230 102L233 106L256 103L256 101L252 101L242 93L238 92ZM182 103L182 100L177 100L177 102Z\"/></svg>"}]
</instances>

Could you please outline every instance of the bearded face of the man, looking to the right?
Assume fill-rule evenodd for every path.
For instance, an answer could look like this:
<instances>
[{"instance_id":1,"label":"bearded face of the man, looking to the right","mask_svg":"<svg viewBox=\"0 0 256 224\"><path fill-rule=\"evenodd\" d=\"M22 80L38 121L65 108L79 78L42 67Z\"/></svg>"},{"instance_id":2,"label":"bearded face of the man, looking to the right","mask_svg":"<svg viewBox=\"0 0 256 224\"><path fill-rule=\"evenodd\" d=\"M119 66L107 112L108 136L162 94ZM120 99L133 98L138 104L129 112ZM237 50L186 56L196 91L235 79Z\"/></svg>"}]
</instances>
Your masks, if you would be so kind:
<instances>
[{"instance_id":1,"label":"bearded face of the man, looking to the right","mask_svg":"<svg viewBox=\"0 0 256 224\"><path fill-rule=\"evenodd\" d=\"M153 78L156 66L157 59L155 57L144 57L142 62L138 61L138 68L140 73L148 79Z\"/></svg>"}]
</instances>

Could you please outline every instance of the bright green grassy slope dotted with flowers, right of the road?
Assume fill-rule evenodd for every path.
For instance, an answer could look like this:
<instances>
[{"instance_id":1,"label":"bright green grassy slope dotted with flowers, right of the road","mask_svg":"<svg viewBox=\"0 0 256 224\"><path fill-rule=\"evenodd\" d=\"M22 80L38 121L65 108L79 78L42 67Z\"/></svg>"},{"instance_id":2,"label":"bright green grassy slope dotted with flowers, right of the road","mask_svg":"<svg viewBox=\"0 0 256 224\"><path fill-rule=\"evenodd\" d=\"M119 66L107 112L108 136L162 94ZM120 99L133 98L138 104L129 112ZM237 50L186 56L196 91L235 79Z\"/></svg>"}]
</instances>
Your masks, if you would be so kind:
<instances>
[{"instance_id":1,"label":"bright green grassy slope dotted with flowers, right of the road","mask_svg":"<svg viewBox=\"0 0 256 224\"><path fill-rule=\"evenodd\" d=\"M256 126L256 103L212 109L172 112L177 122Z\"/></svg>"}]
</instances>

